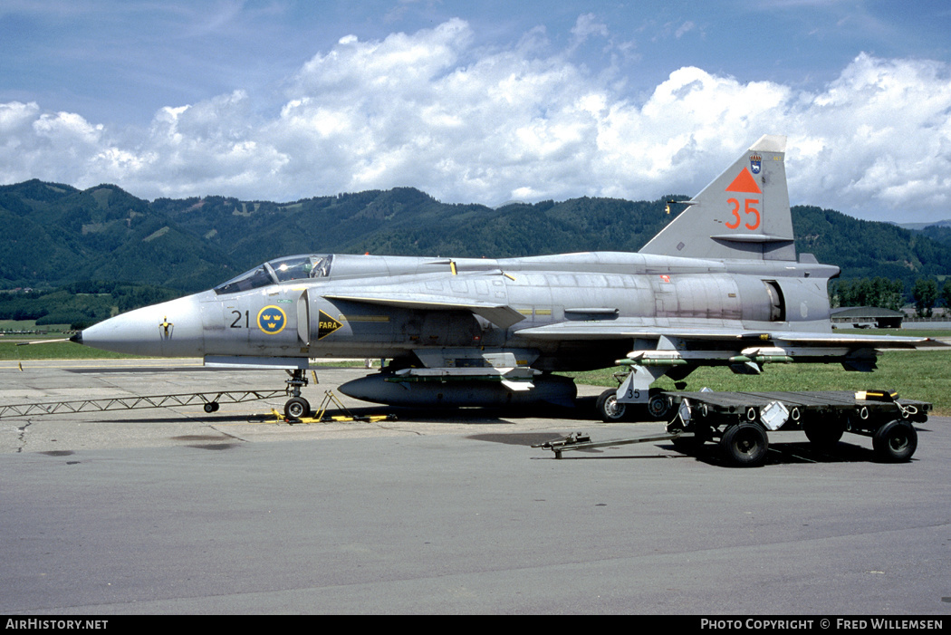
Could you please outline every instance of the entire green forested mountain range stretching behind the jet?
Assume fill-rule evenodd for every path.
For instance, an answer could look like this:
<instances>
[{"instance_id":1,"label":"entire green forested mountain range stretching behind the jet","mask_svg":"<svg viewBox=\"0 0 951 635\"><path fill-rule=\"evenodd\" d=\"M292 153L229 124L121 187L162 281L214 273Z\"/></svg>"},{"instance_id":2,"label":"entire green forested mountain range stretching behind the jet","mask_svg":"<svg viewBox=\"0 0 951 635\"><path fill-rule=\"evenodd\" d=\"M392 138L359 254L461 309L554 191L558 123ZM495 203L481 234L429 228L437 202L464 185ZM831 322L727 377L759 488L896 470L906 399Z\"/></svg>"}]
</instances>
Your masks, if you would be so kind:
<instances>
[{"instance_id":1,"label":"entire green forested mountain range stretching behind the jet","mask_svg":"<svg viewBox=\"0 0 951 635\"><path fill-rule=\"evenodd\" d=\"M685 198L685 197L674 197ZM636 251L670 221L653 202L572 199L493 209L445 204L413 188L297 202L137 199L115 185L0 186L0 288L112 280L193 292L278 256L364 253L507 257ZM844 279L951 273L951 246L884 222L794 207L797 250Z\"/></svg>"}]
</instances>

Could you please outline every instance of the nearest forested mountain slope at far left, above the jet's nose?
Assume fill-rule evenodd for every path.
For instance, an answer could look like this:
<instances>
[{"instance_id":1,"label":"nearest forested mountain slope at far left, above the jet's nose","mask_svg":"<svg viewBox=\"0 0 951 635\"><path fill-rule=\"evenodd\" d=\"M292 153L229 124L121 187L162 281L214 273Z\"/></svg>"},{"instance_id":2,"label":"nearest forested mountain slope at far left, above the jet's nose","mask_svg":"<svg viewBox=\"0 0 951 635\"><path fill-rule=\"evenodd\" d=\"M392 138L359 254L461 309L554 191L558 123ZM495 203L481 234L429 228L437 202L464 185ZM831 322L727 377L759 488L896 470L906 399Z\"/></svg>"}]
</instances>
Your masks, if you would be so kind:
<instances>
[{"instance_id":1,"label":"nearest forested mountain slope at far left, above the jet's nose","mask_svg":"<svg viewBox=\"0 0 951 635\"><path fill-rule=\"evenodd\" d=\"M191 290L232 262L114 185L0 187L0 288L123 280Z\"/></svg>"}]
</instances>

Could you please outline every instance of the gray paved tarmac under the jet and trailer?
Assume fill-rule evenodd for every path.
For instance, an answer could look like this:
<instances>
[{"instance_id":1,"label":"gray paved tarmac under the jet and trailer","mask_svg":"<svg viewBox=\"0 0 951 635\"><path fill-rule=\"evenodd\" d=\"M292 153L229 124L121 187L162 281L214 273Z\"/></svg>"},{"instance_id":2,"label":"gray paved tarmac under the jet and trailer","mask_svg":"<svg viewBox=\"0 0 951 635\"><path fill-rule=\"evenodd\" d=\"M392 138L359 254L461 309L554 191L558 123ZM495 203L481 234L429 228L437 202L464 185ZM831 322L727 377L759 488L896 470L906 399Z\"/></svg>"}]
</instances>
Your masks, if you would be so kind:
<instances>
[{"instance_id":1,"label":"gray paved tarmac under the jet and trailer","mask_svg":"<svg viewBox=\"0 0 951 635\"><path fill-rule=\"evenodd\" d=\"M282 389L200 361L0 363L0 405ZM364 369L319 371L324 391ZM264 420L285 397L0 418L0 614L951 613L951 419L904 464L770 433L767 465L715 447L534 443L660 433L581 407L395 421ZM259 416L261 415L261 416Z\"/></svg>"}]
</instances>

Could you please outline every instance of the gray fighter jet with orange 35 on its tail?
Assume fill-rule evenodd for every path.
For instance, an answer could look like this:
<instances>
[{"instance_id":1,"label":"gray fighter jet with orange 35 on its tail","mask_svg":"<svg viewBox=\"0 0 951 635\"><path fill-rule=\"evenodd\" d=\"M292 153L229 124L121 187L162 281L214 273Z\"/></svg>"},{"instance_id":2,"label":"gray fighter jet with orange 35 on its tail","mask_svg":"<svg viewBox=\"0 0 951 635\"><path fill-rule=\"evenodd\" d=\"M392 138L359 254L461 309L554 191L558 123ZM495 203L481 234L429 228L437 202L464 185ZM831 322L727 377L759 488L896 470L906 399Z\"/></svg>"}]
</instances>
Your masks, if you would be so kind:
<instances>
[{"instance_id":1,"label":"gray fighter jet with orange 35 on its tail","mask_svg":"<svg viewBox=\"0 0 951 635\"><path fill-rule=\"evenodd\" d=\"M769 362L818 361L870 371L877 349L934 343L832 331L826 286L839 268L796 258L785 152L786 137L762 137L637 253L291 256L72 339L285 369L291 416L309 411L301 387L313 357L391 359L340 392L414 406L567 403L573 381L553 372L627 367L598 399L605 420L629 404L664 416L651 382L699 366L755 375Z\"/></svg>"}]
</instances>

